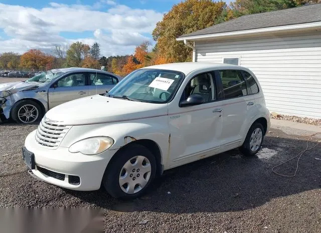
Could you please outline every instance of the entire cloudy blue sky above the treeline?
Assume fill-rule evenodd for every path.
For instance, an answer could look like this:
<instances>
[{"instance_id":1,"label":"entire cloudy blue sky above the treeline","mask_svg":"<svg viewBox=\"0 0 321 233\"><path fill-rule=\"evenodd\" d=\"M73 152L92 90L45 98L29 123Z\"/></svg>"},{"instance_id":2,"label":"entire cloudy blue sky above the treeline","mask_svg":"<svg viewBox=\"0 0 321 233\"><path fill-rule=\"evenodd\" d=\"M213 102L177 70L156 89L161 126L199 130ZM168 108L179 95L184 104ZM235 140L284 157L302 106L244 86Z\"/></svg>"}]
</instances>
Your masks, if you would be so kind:
<instances>
[{"instance_id":1,"label":"entire cloudy blue sky above the treeline","mask_svg":"<svg viewBox=\"0 0 321 233\"><path fill-rule=\"evenodd\" d=\"M98 42L104 56L132 54L181 0L1 0L0 53Z\"/></svg>"}]
</instances>

